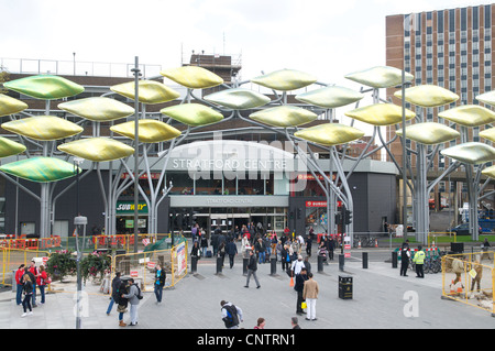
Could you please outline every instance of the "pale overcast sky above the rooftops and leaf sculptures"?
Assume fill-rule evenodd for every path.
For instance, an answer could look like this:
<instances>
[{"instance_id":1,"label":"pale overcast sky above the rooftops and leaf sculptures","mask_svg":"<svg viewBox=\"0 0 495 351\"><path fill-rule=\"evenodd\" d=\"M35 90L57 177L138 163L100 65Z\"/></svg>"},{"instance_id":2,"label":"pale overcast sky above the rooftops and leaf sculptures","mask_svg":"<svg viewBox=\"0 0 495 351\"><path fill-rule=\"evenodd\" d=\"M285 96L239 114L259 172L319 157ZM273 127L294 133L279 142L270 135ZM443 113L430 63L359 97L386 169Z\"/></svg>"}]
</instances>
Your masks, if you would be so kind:
<instances>
[{"instance_id":1,"label":"pale overcast sky above the rooftops and leaf sculptures","mask_svg":"<svg viewBox=\"0 0 495 351\"><path fill-rule=\"evenodd\" d=\"M345 74L385 65L391 14L469 0L0 0L0 57L178 67L193 50L241 55L243 80L282 68L359 87Z\"/></svg>"}]
</instances>

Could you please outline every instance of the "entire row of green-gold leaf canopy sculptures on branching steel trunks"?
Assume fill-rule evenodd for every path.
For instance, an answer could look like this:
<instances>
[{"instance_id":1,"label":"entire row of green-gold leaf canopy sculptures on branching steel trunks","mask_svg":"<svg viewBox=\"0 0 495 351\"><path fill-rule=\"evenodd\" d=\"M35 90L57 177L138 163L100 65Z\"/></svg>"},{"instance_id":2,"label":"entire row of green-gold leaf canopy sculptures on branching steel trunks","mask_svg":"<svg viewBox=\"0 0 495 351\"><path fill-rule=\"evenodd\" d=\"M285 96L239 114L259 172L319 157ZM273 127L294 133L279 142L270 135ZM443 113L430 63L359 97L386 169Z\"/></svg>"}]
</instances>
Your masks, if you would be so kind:
<instances>
[{"instance_id":1,"label":"entire row of green-gold leaf canopy sculptures on branching steel trunks","mask_svg":"<svg viewBox=\"0 0 495 351\"><path fill-rule=\"evenodd\" d=\"M136 66L133 72L138 76L139 67ZM438 184L439 179L459 167L460 164L470 167L479 165L476 177L481 174L484 163L493 160L491 158L493 151L490 149L491 146L486 147L488 145L482 143L463 145L468 143L466 128L490 124L495 119L495 114L485 108L463 106L439 113L440 118L451 123L450 125L427 122L425 114L428 109L453 103L459 97L440 87L416 86L405 89L404 97L402 91L395 94L397 98L405 99L417 107L415 111L405 110L407 123L399 129L398 125L403 121L402 107L383 100L380 92L381 89L396 88L410 83L414 79L413 75L404 73L405 80L403 80L400 69L377 66L349 74L345 78L364 87L360 91L355 91L346 87L328 85L318 81L310 74L296 69L275 70L242 83L234 80L232 85L226 85L221 77L199 66L163 69L158 77L142 77L134 81L112 86L108 92L100 97L61 101L58 103L59 109L66 111L69 116L81 119L76 123L51 116L50 103L51 100L77 96L84 91L81 86L65 78L50 75L8 81L3 85L7 89L46 100L46 108L45 116L20 118L20 116L26 114L24 110L28 106L22 101L0 95L0 116L10 117L10 121L3 123L2 128L15 133L21 141L21 143L15 143L11 140L0 139L0 156L6 157L23 152L26 154L26 160L22 160L24 162L2 165L0 171L10 182L15 180L9 175L19 177L28 175L28 178L32 175L32 178L29 178L30 180L40 182L41 196L37 197L32 193L31 195L42 204L42 237L50 233L50 215L52 212L52 218L54 218L56 199L72 186L54 197L53 185L59 179L72 177L81 172L79 167L67 163L70 156L84 158L91 163L89 171L84 173L81 177L94 168L98 172L105 202L105 226L108 233L116 232L117 200L132 185L135 185L136 191L147 204L148 231L157 232L158 206L172 189L172 185L168 187L165 185L165 171L173 149L186 141L197 130L223 123L232 118L239 118L251 125L280 134L289 141L296 151L296 156L299 157L301 164L306 165L304 172L309 171L315 176L316 182L327 196L327 230L331 233L337 232L333 216L337 201L342 201L349 210L353 210L353 199L348 180L363 158L383 149L388 153L397 169L403 172L392 154L389 145L397 138L405 143L403 140L405 131L405 138L411 141L411 146L407 150L408 153L416 155L417 169L416 175L413 174L411 160L406 157L409 173L407 186L411 189L415 199L414 218L418 229L417 237L418 240L425 242L425 233L428 232L429 228L429 191ZM167 87L164 83L157 81L158 79L169 79L185 87L187 94L180 99L178 91ZM246 84L258 85L272 90L274 98L244 88L243 85ZM219 91L206 96L197 94L197 90L212 87L219 87ZM296 106L287 101L287 94L297 89L305 89L305 91L295 96L298 101ZM359 107L367 92L371 92L373 103ZM113 99L112 96L114 95L134 100L134 108ZM479 99L484 103L495 103L493 95L483 95ZM147 105L170 101L175 101L175 103L162 108L158 116L146 112ZM351 125L334 123L337 110L350 105L355 105L355 107L348 110L344 116L351 119ZM132 116L138 118L138 124L130 120ZM318 121L319 117L324 122ZM122 119L127 120L120 121ZM346 152L350 143L364 143L362 140L364 132L354 128L355 121L372 125L373 134L366 141L364 147L361 147L359 156L350 156ZM100 135L101 122L111 124L109 136ZM455 124L461 125L461 132L455 130ZM82 138L81 132L86 125L92 127L92 135ZM395 125L396 134L391 140L385 140L382 135L382 129L388 125ZM135 135L136 131L138 135ZM486 130L480 135L493 141L488 131ZM117 140L114 135L119 135L121 139ZM435 155L444 143L459 139L459 136L461 136L459 146L463 147L453 150L453 153L449 149L442 150L443 155L454 161L441 177L428 183L426 175L428 168L433 164ZM381 140L381 146L372 147L376 138ZM58 144L55 144L57 140ZM59 140L64 142L61 144ZM28 141L43 149L42 157L31 157L23 145ZM158 146L155 147L154 144L158 144ZM152 157L152 147L162 150L162 152ZM336 178L323 172L321 160L317 160L315 155L315 147L328 150L330 155L329 171L330 174L337 175ZM138 178L147 179L148 194L136 182L135 175L129 166L130 161L134 161L133 155L136 151L142 155L138 160ZM64 157L61 157L59 153L65 154L65 160L62 160ZM475 155L479 158L475 158ZM63 161L65 164L53 162L53 160ZM105 182L100 172L101 162L109 162L107 187L103 186ZM344 162L349 168L346 172L343 167ZM153 182L151 169L156 167L158 163L162 167L160 178L157 182ZM117 164L117 167L114 164ZM46 174L33 171L40 166ZM23 169L23 172L19 169ZM317 176L317 173L321 176ZM485 174L490 176L490 173L485 172ZM16 185L22 187L19 183ZM24 190L29 191L25 188ZM475 190L474 186L471 190ZM474 205L471 206L474 208ZM52 211L50 211L50 208L52 208ZM353 224L351 223L343 230L352 237ZM477 231L473 231L473 233L477 233Z\"/></svg>"}]
</instances>

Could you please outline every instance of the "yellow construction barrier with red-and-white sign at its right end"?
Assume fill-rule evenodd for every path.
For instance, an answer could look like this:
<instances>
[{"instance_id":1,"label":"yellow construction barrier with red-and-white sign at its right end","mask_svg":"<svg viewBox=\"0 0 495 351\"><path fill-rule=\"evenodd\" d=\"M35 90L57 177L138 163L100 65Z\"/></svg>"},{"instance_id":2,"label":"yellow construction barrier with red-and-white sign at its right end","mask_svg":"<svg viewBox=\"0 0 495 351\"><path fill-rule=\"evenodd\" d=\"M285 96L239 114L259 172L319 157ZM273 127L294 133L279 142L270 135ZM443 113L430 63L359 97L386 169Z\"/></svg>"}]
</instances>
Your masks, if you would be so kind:
<instances>
[{"instance_id":1,"label":"yellow construction barrier with red-and-white sign at its right end","mask_svg":"<svg viewBox=\"0 0 495 351\"><path fill-rule=\"evenodd\" d=\"M112 257L113 277L116 272L121 278L132 277L144 292L154 289L154 272L160 265L166 273L165 288L177 284L187 275L187 241L167 250L117 254Z\"/></svg>"}]
</instances>

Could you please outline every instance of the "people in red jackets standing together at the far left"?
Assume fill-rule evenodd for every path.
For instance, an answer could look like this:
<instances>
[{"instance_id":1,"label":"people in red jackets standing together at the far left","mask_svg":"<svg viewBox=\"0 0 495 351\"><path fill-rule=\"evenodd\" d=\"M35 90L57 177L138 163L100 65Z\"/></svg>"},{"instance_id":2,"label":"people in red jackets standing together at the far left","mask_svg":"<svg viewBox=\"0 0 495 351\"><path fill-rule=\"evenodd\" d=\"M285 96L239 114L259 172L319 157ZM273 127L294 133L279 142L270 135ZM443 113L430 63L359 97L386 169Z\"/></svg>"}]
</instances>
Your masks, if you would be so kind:
<instances>
[{"instance_id":1,"label":"people in red jackets standing together at the far left","mask_svg":"<svg viewBox=\"0 0 495 351\"><path fill-rule=\"evenodd\" d=\"M15 303L18 306L22 305L23 309L21 317L31 316L33 315L33 308L37 307L36 287L40 289L40 304L45 304L45 287L50 284L48 274L44 265L37 267L36 262L32 260L29 267L21 264L14 277L16 283Z\"/></svg>"}]
</instances>

